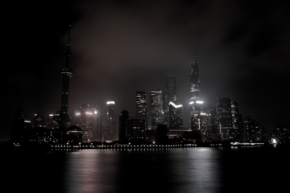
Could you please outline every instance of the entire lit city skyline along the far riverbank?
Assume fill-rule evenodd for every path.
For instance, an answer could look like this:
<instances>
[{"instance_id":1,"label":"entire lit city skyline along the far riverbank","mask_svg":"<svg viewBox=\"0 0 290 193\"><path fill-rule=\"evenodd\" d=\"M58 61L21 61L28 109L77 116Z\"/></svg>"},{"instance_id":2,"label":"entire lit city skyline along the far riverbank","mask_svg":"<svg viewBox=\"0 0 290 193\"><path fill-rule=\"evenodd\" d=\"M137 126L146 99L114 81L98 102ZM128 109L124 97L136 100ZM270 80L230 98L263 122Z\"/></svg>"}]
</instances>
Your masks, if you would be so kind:
<instances>
[{"instance_id":1,"label":"entire lit city skyline along the far riverbank","mask_svg":"<svg viewBox=\"0 0 290 193\"><path fill-rule=\"evenodd\" d=\"M189 63L190 69L190 120L189 128L183 127L183 105L178 103L176 77L166 77L165 87L150 93L136 91L135 116L124 110L115 121L114 101L107 102L107 119L102 123L102 114L97 105L79 106L77 113L68 115L69 80L73 70L67 63L62 68L63 76L61 108L53 115L47 115L47 122L41 113L35 113L34 125L23 119L21 106L15 113L11 141L36 144L68 143L169 143L173 141L233 141L266 142L272 137L287 143L289 128L272 128L272 136L260 128L259 123L249 116L242 117L238 102L231 98L218 98L214 107L203 103L200 91L200 76L197 56ZM149 95L148 95L149 94ZM187 112L186 112L187 113ZM118 130L117 130L118 127Z\"/></svg>"}]
</instances>

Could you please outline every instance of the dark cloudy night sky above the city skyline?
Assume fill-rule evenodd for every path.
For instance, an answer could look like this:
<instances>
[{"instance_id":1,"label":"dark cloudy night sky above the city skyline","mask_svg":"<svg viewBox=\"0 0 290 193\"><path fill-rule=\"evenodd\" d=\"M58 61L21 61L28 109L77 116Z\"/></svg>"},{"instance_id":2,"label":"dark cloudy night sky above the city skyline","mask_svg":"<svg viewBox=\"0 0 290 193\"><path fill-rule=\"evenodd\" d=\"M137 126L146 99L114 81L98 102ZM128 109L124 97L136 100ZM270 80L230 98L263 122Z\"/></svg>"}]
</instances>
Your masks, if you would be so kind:
<instances>
[{"instance_id":1,"label":"dark cloudy night sky above the city skyline","mask_svg":"<svg viewBox=\"0 0 290 193\"><path fill-rule=\"evenodd\" d=\"M289 126L289 7L282 1L39 1L4 3L2 13L3 122L9 140L14 113L34 124L61 106L70 32L73 76L69 114L106 102L135 115L135 92L148 95L176 76L177 104L189 127L194 52L204 104L238 101L243 117L267 131ZM285 2L286 3L286 2ZM148 98L150 103L150 98Z\"/></svg>"}]
</instances>

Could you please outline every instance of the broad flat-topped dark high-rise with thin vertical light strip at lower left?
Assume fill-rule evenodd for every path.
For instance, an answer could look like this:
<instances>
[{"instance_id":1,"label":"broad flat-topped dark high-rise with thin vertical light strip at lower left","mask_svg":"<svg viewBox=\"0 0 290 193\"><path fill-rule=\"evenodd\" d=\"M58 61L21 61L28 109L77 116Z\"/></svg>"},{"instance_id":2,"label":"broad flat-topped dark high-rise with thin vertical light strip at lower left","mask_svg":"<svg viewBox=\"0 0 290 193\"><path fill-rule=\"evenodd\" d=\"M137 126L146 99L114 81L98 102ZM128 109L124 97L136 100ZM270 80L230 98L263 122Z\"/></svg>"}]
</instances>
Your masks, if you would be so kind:
<instances>
[{"instance_id":1,"label":"broad flat-topped dark high-rise with thin vertical light strip at lower left","mask_svg":"<svg viewBox=\"0 0 290 193\"><path fill-rule=\"evenodd\" d=\"M216 109L220 140L233 140L233 116L231 98L218 98Z\"/></svg>"}]
</instances>

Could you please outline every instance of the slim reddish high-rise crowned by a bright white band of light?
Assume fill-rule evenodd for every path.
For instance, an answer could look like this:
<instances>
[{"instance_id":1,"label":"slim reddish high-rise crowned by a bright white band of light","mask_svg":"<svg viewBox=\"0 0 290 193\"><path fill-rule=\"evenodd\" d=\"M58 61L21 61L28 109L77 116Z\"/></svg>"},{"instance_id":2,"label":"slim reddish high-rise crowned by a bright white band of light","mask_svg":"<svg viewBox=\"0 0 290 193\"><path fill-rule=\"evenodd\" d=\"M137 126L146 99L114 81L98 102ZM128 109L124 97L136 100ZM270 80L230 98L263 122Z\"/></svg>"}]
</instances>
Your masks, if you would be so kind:
<instances>
[{"instance_id":1,"label":"slim reddish high-rise crowned by a bright white band of light","mask_svg":"<svg viewBox=\"0 0 290 193\"><path fill-rule=\"evenodd\" d=\"M107 123L105 125L104 140L106 142L113 142L117 140L117 130L116 121L114 120L114 101L107 102L108 112L107 112Z\"/></svg>"}]
</instances>

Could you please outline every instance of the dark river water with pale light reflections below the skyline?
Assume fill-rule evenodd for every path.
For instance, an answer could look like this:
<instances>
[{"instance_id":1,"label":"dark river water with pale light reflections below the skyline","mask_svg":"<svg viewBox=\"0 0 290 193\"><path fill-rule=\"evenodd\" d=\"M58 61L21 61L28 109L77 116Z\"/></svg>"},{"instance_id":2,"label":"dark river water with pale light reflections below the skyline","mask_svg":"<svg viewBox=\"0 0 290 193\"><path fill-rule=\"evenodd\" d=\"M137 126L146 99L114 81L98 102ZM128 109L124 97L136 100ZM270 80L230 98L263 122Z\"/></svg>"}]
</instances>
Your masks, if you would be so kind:
<instances>
[{"instance_id":1,"label":"dark river water with pale light reflections below the skyline","mask_svg":"<svg viewBox=\"0 0 290 193\"><path fill-rule=\"evenodd\" d=\"M0 192L287 192L289 148L4 151Z\"/></svg>"}]
</instances>

